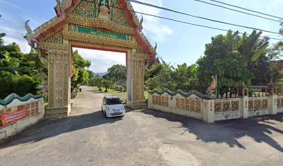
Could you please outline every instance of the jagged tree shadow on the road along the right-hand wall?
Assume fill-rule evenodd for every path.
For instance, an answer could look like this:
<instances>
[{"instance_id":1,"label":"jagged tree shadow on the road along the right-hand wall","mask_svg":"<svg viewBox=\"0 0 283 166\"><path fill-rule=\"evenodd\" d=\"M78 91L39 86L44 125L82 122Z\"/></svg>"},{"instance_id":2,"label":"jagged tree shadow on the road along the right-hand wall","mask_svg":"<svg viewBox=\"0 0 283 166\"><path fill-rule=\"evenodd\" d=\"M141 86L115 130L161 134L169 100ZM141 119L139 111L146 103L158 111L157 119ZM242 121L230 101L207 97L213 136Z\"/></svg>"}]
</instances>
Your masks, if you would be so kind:
<instances>
[{"instance_id":1,"label":"jagged tree shadow on the road along the right-hand wall","mask_svg":"<svg viewBox=\"0 0 283 166\"><path fill-rule=\"evenodd\" d=\"M144 110L141 111L155 118L165 118L171 122L180 122L182 125L178 128L184 129L181 135L186 132L193 133L197 140L203 142L225 142L230 147L240 147L246 149L238 141L239 138L248 136L256 142L265 142L278 151L283 151L281 145L273 140L269 135L273 132L283 134L282 129L274 127L277 123L282 122L282 114L277 116L268 116L266 118L250 118L238 120L225 120L215 122L214 124L207 124L200 120L187 118L182 116L175 116L170 113L163 113L160 111ZM271 122L275 120L275 122Z\"/></svg>"}]
</instances>

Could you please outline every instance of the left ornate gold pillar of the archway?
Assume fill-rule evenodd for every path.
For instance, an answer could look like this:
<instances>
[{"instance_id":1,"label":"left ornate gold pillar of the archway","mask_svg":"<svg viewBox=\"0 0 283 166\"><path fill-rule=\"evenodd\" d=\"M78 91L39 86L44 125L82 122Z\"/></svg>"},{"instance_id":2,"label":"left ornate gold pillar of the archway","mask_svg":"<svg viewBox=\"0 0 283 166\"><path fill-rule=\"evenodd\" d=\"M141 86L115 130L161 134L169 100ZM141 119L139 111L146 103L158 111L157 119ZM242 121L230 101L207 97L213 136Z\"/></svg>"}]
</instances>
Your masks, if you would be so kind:
<instances>
[{"instance_id":1,"label":"left ornate gold pillar of the archway","mask_svg":"<svg viewBox=\"0 0 283 166\"><path fill-rule=\"evenodd\" d=\"M44 118L62 118L69 115L69 50L40 50L40 59L48 68L48 106Z\"/></svg>"}]
</instances>

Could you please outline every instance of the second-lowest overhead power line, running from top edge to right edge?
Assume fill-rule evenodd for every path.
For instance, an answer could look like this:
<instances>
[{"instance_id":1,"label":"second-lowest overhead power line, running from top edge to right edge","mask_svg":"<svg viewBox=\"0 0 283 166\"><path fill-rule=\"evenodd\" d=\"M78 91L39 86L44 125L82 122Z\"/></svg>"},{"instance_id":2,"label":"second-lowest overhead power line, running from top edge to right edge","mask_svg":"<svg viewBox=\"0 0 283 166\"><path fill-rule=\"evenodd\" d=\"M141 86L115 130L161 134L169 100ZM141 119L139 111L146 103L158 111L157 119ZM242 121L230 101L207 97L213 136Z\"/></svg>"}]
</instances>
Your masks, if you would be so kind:
<instances>
[{"instance_id":1,"label":"second-lowest overhead power line, running from top edge to right edge","mask_svg":"<svg viewBox=\"0 0 283 166\"><path fill-rule=\"evenodd\" d=\"M207 19L205 17L190 15L190 14L187 14L185 12L178 12L176 10L172 10L172 9L164 8L164 7L160 7L160 6L155 6L153 4L144 3L144 2L141 2L141 1L136 1L136 0L127 0L127 1L131 1L133 3L138 3L138 4L141 4L141 5L144 5L144 6L151 6L153 8L158 8L158 9L162 9L162 10L168 10L170 12L175 12L175 13L178 13L178 14L181 14L181 15L187 15L189 17L195 17L195 18L198 18L198 19L205 19L205 20L208 20L208 21L213 21L213 22L217 22L217 23L221 23L221 24L227 24L227 25L230 25L230 26L238 26L238 27L241 27L241 28L248 28L248 29L252 29L252 30L260 30L260 31L263 31L263 32L266 32L266 33L274 33L274 34L277 34L277 35L281 35L280 33L275 33L275 32L270 31L270 30L264 30L264 29L261 29L261 28L253 28L253 27L250 27L250 26L242 26L242 25L232 24L232 23L228 23L228 22L224 22L224 21L218 21L218 20L215 20L215 19Z\"/></svg>"}]
</instances>

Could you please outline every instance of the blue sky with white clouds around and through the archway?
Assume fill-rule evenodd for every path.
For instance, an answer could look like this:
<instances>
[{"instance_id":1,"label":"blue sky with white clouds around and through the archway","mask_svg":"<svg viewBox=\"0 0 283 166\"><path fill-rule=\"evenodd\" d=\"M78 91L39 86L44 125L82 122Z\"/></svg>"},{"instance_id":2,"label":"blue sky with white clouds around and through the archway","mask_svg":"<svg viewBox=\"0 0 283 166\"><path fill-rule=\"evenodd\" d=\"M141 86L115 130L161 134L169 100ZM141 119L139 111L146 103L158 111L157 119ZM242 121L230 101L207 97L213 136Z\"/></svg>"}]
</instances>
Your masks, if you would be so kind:
<instances>
[{"instance_id":1,"label":"blue sky with white clouds around and through the archway","mask_svg":"<svg viewBox=\"0 0 283 166\"><path fill-rule=\"evenodd\" d=\"M249 15L244 15L239 12L233 12L209 6L194 0L140 0L148 3L154 3L157 6L164 6L187 12L191 15L198 15L210 19L218 19L221 21L231 22L234 24L241 24L255 28L262 28L277 32L280 28L279 23L275 21L268 21ZM212 2L209 0L203 0ZM224 1L224 0L219 0ZM225 0L225 3L231 3L236 6L250 8L261 12L266 12L271 15L283 17L283 0ZM30 26L32 29L37 28L45 21L48 21L55 16L53 7L55 0L0 0L0 32L6 33L5 42L9 44L16 42L22 48L24 53L27 53L30 48L23 38L25 34L24 21L31 19ZM146 12L153 15L160 15L162 17L170 17L182 21L188 21L194 24L203 24L206 26L213 26L216 28L239 30L240 32L251 33L252 30L246 28L239 28L235 26L228 26L224 24L217 24L211 21L202 19L195 19L185 15L178 15L164 10L157 10L155 8L141 6L132 3L135 10L139 12ZM138 17L140 17L138 15ZM211 30L207 28L200 28L196 26L189 26L186 24L179 24L172 21L158 19L154 17L144 16L144 33L148 37L151 44L155 42L158 44L157 53L163 57L166 62L171 64L187 64L196 63L197 59L203 55L205 44L211 41L211 37L218 34L225 34L221 30ZM280 38L278 35L264 33L270 37ZM271 43L277 41L271 40ZM95 72L107 71L107 68L112 64L126 64L125 55L121 53L101 52L97 50L79 49L79 53L86 59L92 61L91 69Z\"/></svg>"}]
</instances>

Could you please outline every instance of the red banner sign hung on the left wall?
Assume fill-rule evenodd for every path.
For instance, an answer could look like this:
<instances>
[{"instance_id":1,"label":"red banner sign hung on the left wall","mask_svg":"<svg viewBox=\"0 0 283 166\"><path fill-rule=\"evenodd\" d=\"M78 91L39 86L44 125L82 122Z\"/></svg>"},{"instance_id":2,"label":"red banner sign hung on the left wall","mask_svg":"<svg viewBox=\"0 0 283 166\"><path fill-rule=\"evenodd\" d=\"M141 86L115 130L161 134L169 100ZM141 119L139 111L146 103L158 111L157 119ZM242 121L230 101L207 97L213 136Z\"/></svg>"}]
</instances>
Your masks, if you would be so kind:
<instances>
[{"instance_id":1,"label":"red banner sign hung on the left wall","mask_svg":"<svg viewBox=\"0 0 283 166\"><path fill-rule=\"evenodd\" d=\"M12 113L2 113L1 120L2 120L3 127L5 127L8 124L12 124L19 120L22 120L28 116L29 116L29 113L28 113L27 107L20 109L19 111L12 112Z\"/></svg>"}]
</instances>

